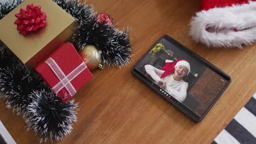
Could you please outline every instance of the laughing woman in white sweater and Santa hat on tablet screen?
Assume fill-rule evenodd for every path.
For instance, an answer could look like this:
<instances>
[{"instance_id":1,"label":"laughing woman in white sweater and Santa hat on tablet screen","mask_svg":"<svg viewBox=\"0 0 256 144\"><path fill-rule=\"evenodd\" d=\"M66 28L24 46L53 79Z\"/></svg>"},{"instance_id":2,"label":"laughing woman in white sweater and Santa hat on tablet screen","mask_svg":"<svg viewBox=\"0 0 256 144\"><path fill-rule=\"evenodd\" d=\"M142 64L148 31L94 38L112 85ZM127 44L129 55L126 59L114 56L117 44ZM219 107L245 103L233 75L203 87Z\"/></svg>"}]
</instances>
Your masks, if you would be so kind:
<instances>
[{"instance_id":1,"label":"laughing woman in white sweater and Santa hat on tablet screen","mask_svg":"<svg viewBox=\"0 0 256 144\"><path fill-rule=\"evenodd\" d=\"M185 100L188 83L183 81L182 77L190 72L190 64L186 59L178 59L175 62L166 60L161 70L152 65L145 65L145 69L147 74L167 93L180 102Z\"/></svg>"}]
</instances>

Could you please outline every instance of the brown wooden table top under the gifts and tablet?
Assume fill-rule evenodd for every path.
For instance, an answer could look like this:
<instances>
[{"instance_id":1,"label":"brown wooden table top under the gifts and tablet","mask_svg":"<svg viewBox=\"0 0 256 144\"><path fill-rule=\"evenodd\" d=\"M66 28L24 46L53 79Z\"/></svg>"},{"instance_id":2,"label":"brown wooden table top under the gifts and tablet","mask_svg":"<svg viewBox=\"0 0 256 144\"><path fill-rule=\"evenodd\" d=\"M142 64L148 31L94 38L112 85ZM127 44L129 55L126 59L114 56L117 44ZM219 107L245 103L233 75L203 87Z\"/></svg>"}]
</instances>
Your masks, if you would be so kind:
<instances>
[{"instance_id":1,"label":"brown wooden table top under the gifts and tablet","mask_svg":"<svg viewBox=\"0 0 256 144\"><path fill-rule=\"evenodd\" d=\"M256 45L242 50L209 49L188 35L200 1L88 1L112 15L118 28L131 27L132 61L124 68L92 71L94 78L75 95L78 122L58 143L211 143L256 91ZM232 77L230 86L202 122L196 123L131 74L132 66L168 34ZM37 143L24 119L5 108L0 118L18 143Z\"/></svg>"}]
</instances>

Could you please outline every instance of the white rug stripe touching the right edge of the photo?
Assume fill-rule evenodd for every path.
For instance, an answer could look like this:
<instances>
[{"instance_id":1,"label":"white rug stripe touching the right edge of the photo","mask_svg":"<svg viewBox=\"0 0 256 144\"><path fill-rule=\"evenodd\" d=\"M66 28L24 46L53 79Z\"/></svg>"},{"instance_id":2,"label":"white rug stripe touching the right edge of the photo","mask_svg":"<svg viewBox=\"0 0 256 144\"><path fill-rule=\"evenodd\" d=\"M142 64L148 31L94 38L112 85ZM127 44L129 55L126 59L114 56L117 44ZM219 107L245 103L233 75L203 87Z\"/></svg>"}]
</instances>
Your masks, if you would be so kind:
<instances>
[{"instance_id":1,"label":"white rug stripe touching the right edge of the photo","mask_svg":"<svg viewBox=\"0 0 256 144\"><path fill-rule=\"evenodd\" d=\"M250 111L242 107L234 119L256 137L256 117Z\"/></svg>"}]
</instances>

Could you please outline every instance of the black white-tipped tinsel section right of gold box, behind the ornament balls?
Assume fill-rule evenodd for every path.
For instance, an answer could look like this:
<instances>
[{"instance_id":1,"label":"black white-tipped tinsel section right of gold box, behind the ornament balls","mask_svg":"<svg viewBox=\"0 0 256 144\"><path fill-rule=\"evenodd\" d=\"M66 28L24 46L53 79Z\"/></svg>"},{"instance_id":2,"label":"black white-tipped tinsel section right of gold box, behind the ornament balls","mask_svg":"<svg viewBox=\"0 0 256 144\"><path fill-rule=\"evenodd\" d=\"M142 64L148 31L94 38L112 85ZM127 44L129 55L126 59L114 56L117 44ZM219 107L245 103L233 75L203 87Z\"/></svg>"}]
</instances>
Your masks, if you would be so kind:
<instances>
[{"instance_id":1,"label":"black white-tipped tinsel section right of gold box, behind the ornament balls","mask_svg":"<svg viewBox=\"0 0 256 144\"><path fill-rule=\"evenodd\" d=\"M94 45L102 53L104 62L115 66L125 66L131 59L129 29L120 31L111 25L98 22L91 5L77 0L54 0L62 9L78 22L78 32L74 34L73 44L79 51L85 45Z\"/></svg>"}]
</instances>

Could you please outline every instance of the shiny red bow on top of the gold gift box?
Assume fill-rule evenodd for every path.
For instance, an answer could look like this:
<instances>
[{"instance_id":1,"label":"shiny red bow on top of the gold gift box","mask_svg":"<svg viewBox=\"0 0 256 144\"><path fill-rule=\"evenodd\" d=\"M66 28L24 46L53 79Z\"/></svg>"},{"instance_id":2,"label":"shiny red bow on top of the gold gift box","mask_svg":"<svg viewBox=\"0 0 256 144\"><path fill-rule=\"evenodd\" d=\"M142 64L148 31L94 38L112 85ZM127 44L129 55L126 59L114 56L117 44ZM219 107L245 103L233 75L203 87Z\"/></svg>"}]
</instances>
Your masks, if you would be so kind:
<instances>
[{"instance_id":1,"label":"shiny red bow on top of the gold gift box","mask_svg":"<svg viewBox=\"0 0 256 144\"><path fill-rule=\"evenodd\" d=\"M37 31L45 26L46 14L41 11L40 5L28 4L26 9L20 9L20 13L15 14L18 19L14 22L17 30L25 35Z\"/></svg>"}]
</instances>

